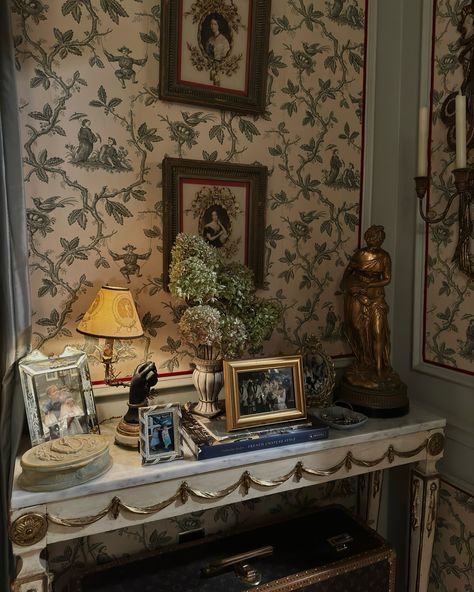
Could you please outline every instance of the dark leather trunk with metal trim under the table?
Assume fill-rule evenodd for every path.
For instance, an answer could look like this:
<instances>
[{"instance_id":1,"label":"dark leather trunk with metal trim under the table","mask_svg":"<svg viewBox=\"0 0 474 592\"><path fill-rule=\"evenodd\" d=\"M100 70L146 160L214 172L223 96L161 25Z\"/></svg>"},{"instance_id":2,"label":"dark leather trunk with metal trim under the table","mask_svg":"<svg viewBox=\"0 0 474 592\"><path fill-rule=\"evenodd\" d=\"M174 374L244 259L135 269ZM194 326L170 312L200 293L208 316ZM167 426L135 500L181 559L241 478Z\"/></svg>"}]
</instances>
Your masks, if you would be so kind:
<instances>
[{"instance_id":1,"label":"dark leather trunk with metal trim under the table","mask_svg":"<svg viewBox=\"0 0 474 592\"><path fill-rule=\"evenodd\" d=\"M75 592L393 592L395 552L341 506L202 538L74 580Z\"/></svg>"}]
</instances>

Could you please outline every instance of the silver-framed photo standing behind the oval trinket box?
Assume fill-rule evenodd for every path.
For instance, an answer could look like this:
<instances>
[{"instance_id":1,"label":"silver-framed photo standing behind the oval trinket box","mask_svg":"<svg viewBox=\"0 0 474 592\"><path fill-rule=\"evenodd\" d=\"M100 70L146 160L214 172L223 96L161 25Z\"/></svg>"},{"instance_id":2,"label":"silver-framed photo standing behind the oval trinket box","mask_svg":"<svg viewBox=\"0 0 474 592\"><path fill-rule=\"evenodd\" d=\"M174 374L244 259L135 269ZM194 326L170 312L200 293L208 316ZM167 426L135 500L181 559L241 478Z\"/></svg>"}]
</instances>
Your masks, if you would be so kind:
<instances>
[{"instance_id":1,"label":"silver-framed photo standing behind the oval trinket box","mask_svg":"<svg viewBox=\"0 0 474 592\"><path fill-rule=\"evenodd\" d=\"M35 350L19 363L31 444L76 434L98 434L85 352L66 347L59 356Z\"/></svg>"}]
</instances>

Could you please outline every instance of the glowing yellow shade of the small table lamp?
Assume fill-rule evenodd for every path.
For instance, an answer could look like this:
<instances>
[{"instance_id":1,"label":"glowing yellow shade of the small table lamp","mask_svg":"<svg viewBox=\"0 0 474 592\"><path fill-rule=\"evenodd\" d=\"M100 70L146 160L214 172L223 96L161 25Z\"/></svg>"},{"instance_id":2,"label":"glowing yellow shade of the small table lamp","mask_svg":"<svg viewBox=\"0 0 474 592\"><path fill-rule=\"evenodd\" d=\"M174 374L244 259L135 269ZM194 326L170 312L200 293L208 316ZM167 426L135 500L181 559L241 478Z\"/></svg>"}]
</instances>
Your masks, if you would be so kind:
<instances>
[{"instance_id":1,"label":"glowing yellow shade of the small table lamp","mask_svg":"<svg viewBox=\"0 0 474 592\"><path fill-rule=\"evenodd\" d=\"M136 339L143 328L128 288L102 286L77 326L84 335L109 339Z\"/></svg>"}]
</instances>

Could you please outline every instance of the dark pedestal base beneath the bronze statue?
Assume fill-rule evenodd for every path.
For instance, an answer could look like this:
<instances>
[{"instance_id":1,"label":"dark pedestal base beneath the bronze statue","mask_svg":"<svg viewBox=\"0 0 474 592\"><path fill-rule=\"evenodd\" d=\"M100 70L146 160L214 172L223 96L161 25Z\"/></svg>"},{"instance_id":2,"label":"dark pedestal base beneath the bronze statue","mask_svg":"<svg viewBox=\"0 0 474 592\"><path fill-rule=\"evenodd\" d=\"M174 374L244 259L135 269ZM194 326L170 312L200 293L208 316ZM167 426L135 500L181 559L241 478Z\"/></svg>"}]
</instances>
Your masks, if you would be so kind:
<instances>
[{"instance_id":1,"label":"dark pedestal base beneath the bronze statue","mask_svg":"<svg viewBox=\"0 0 474 592\"><path fill-rule=\"evenodd\" d=\"M335 398L350 403L354 411L368 417L400 417L410 410L407 386L403 382L390 390L368 389L354 386L344 376Z\"/></svg>"}]
</instances>

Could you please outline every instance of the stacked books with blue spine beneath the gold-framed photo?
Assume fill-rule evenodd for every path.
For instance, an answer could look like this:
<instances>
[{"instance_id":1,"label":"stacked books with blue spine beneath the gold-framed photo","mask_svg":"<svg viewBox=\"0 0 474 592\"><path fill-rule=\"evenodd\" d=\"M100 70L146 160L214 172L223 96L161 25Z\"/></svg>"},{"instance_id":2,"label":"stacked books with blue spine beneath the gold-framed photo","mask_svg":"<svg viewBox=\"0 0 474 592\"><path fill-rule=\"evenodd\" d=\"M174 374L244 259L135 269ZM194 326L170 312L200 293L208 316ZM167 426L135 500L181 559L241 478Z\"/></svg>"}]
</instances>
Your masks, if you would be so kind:
<instances>
[{"instance_id":1,"label":"stacked books with blue spine beneath the gold-framed photo","mask_svg":"<svg viewBox=\"0 0 474 592\"><path fill-rule=\"evenodd\" d=\"M329 435L329 427L312 416L298 423L227 432L224 416L208 419L193 415L186 407L181 428L185 444L198 460L324 440Z\"/></svg>"}]
</instances>

